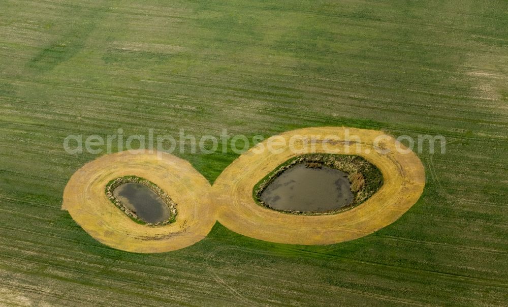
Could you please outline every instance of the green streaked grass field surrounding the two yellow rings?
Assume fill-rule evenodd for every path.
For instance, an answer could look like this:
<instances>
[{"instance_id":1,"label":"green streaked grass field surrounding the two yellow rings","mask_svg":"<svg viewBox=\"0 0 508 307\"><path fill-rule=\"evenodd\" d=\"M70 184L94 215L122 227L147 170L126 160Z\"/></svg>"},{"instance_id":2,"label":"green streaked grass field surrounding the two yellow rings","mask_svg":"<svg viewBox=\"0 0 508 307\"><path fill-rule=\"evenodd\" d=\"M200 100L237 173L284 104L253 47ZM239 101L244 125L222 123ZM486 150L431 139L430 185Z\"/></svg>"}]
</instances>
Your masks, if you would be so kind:
<instances>
[{"instance_id":1,"label":"green streaked grass field surrounding the two yellow rings","mask_svg":"<svg viewBox=\"0 0 508 307\"><path fill-rule=\"evenodd\" d=\"M508 3L0 0L0 305L504 305ZM284 245L220 224L106 247L60 209L70 134L442 134L417 204L363 238ZM237 155L191 155L210 182Z\"/></svg>"}]
</instances>

